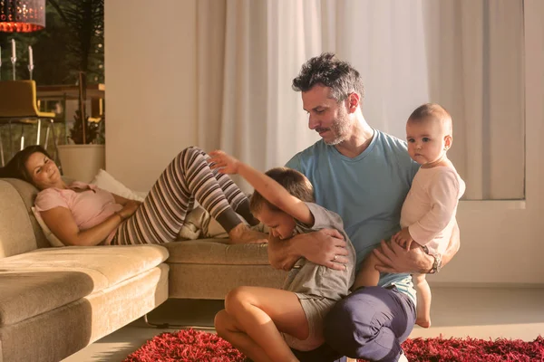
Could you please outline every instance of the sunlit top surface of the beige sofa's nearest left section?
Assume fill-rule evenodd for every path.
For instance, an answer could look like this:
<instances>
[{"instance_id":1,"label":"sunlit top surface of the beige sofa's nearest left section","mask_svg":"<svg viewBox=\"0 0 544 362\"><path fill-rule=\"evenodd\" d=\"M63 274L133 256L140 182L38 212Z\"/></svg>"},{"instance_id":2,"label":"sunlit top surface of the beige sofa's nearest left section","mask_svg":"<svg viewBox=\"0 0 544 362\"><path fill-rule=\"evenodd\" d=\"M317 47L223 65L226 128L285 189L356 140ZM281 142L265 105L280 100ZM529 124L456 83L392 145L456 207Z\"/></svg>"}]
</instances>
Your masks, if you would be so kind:
<instances>
[{"instance_id":1,"label":"sunlit top surface of the beige sofa's nearest left section","mask_svg":"<svg viewBox=\"0 0 544 362\"><path fill-rule=\"evenodd\" d=\"M0 260L0 326L53 310L149 271L159 245L46 248Z\"/></svg>"}]
</instances>

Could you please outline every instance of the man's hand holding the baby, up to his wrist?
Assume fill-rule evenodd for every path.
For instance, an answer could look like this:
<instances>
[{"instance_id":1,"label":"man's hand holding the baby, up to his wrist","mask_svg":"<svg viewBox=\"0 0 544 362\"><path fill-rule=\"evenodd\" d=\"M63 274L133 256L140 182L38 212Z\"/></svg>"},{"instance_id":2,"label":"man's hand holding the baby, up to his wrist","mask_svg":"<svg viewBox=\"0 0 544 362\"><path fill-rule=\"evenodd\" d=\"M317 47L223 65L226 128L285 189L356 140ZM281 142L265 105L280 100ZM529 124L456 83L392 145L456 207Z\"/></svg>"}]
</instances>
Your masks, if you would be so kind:
<instances>
[{"instance_id":1,"label":"man's hand holding the baby, up to his wrist","mask_svg":"<svg viewBox=\"0 0 544 362\"><path fill-rule=\"evenodd\" d=\"M427 273L432 269L434 259L423 252L423 248L404 249L398 243L387 243L382 240L379 247L374 249L374 255L381 265L376 269L382 272Z\"/></svg>"}]
</instances>

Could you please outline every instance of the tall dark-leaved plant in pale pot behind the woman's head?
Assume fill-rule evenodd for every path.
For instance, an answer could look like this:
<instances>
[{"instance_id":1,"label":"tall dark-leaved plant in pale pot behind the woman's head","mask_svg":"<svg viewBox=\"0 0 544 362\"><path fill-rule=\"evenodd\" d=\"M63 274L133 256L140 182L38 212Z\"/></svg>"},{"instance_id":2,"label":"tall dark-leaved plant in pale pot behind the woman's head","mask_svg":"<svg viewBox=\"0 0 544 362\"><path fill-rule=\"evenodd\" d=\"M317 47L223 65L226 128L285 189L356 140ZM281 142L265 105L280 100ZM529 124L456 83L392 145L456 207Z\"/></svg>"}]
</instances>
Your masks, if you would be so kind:
<instances>
[{"instance_id":1,"label":"tall dark-leaved plant in pale pot behind the woman's head","mask_svg":"<svg viewBox=\"0 0 544 362\"><path fill-rule=\"evenodd\" d=\"M72 36L67 50L73 75L77 74L78 108L73 117L68 145L59 146L63 175L81 181L91 181L100 168L105 168L103 145L104 119L92 119L86 111L87 77L103 79L103 0L64 0L50 4L63 19ZM102 122L102 127L96 121ZM102 129L102 132L100 130Z\"/></svg>"}]
</instances>

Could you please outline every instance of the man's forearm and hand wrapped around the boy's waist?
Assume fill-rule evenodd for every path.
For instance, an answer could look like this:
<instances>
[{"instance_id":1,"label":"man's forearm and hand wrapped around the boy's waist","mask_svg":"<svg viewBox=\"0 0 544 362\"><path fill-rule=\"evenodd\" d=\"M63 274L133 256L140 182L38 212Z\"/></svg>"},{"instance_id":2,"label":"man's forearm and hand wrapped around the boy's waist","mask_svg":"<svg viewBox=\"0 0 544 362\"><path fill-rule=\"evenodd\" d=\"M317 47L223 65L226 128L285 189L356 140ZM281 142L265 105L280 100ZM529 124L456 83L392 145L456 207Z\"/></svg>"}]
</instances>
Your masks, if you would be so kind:
<instances>
[{"instance_id":1,"label":"man's forearm and hand wrapped around the boy's waist","mask_svg":"<svg viewBox=\"0 0 544 362\"><path fill-rule=\"evenodd\" d=\"M270 235L268 261L276 269L289 271L298 259L305 257L310 262L343 271L348 262L345 246L342 234L335 229L302 233L288 240L279 240Z\"/></svg>"}]
</instances>

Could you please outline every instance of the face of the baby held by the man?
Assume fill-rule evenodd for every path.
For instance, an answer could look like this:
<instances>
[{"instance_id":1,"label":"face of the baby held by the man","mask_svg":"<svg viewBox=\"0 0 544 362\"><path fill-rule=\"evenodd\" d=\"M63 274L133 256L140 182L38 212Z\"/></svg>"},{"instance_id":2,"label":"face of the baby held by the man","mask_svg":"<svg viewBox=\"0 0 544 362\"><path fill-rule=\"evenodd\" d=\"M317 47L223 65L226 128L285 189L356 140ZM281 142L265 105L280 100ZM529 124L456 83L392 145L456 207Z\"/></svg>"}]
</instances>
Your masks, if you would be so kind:
<instances>
[{"instance_id":1,"label":"face of the baby held by the man","mask_svg":"<svg viewBox=\"0 0 544 362\"><path fill-rule=\"evenodd\" d=\"M409 119L406 123L408 153L420 165L431 164L442 158L446 152L446 138L449 135L436 119Z\"/></svg>"}]
</instances>

